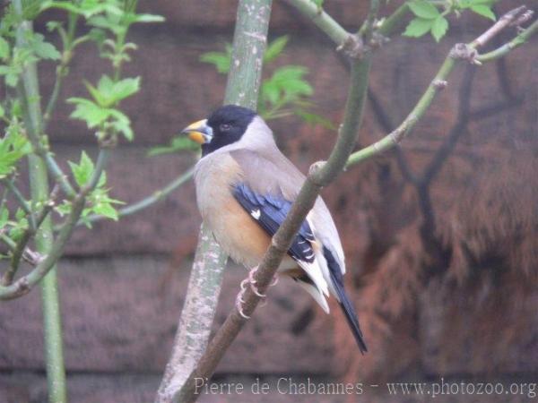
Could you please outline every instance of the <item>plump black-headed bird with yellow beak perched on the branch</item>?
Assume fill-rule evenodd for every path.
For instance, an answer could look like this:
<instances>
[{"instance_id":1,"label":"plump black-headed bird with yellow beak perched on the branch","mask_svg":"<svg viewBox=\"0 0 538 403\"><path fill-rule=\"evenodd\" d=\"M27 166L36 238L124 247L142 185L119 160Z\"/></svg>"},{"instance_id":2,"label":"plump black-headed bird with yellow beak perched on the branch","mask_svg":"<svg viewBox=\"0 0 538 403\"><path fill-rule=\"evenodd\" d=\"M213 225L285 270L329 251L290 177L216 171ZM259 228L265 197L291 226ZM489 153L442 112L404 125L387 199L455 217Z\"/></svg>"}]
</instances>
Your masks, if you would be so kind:
<instances>
[{"instance_id":1,"label":"plump black-headed bird with yellow beak perched on the branch","mask_svg":"<svg viewBox=\"0 0 538 403\"><path fill-rule=\"evenodd\" d=\"M201 144L195 165L195 192L204 224L222 250L244 265L246 281L258 296L254 273L272 236L291 210L305 176L278 149L264 119L247 107L225 105L181 132ZM343 286L343 247L331 213L320 196L299 228L277 272L284 274L329 313L332 295L361 353L368 348L359 320ZM241 293L236 304L241 309Z\"/></svg>"}]
</instances>

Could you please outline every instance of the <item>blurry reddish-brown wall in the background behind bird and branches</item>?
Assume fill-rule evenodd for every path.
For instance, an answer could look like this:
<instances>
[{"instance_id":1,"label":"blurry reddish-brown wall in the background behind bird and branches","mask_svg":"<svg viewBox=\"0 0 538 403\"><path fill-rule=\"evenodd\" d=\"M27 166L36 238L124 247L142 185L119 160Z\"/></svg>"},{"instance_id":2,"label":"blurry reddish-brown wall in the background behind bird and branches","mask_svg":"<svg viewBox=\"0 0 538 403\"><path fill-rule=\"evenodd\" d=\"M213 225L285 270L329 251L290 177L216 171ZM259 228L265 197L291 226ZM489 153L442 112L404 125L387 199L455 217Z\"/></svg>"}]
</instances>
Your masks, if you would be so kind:
<instances>
[{"instance_id":1,"label":"blurry reddish-brown wall in the background behind bird and branches","mask_svg":"<svg viewBox=\"0 0 538 403\"><path fill-rule=\"evenodd\" d=\"M221 103L225 79L198 57L231 40L235 14L229 0L141 3L144 11L161 13L167 21L136 27L130 37L139 49L126 73L143 76L143 89L126 102L136 138L119 147L108 169L112 194L127 202L160 188L194 162L187 154L147 159L145 152ZM325 3L350 29L364 13L365 2ZM506 9L512 2L503 3ZM307 65L318 111L338 122L346 94L345 61L289 6L276 2L273 9L272 36L291 35L279 63ZM430 38L396 37L381 48L360 143L380 138L401 121L449 48L487 25L463 17L439 46ZM353 167L325 191L348 256L348 288L369 354L356 353L334 304L334 316L327 317L282 281L230 348L218 369L222 379L290 373L352 382L535 378L537 44L534 39L506 62L476 68L472 80L465 73L469 67L459 66L399 155ZM102 68L93 47L81 49L62 96L83 94L82 78L95 80ZM43 64L40 73L42 92L48 94L52 67ZM473 111L491 110L451 131L462 82L463 88L473 85ZM60 103L49 130L64 161L76 158L82 146L95 150L91 133L67 118L70 111ZM282 150L303 171L323 159L334 141L334 133L295 118L271 125ZM451 152L438 175L417 187L412 176L420 178L443 148ZM178 321L199 222L194 187L187 184L119 224L102 222L92 231L76 232L60 264L72 401L152 399ZM244 276L244 270L230 267L216 325ZM0 402L43 401L37 290L0 304L0 346ZM385 401L383 394L370 398ZM312 399L305 401L317 401Z\"/></svg>"}]
</instances>

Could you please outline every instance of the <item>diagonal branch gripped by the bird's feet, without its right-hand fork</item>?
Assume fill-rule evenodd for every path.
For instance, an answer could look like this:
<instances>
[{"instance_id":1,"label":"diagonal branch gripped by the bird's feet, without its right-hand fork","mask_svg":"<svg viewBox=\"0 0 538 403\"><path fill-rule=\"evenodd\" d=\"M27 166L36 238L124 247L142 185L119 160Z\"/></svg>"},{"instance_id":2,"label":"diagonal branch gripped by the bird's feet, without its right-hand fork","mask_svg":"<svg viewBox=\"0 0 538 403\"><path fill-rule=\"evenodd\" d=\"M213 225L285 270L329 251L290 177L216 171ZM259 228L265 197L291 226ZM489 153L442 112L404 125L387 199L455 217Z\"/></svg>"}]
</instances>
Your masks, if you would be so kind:
<instances>
[{"instance_id":1,"label":"diagonal branch gripped by the bird's feet, without its right-hand fork","mask_svg":"<svg viewBox=\"0 0 538 403\"><path fill-rule=\"evenodd\" d=\"M372 7L377 7L376 0L372 1L371 4ZM368 36L371 32L365 30L363 34ZM307 179L302 185L297 199L293 202L291 211L273 236L272 242L256 270L256 284L258 291L262 294L272 281L284 254L290 248L293 237L306 218L308 211L314 206L321 189L330 184L342 171L345 161L351 154L362 120L370 63L371 51L369 50L360 59L352 60L350 91L338 140L326 162L317 162L310 167ZM250 316L256 309L259 296L256 296L252 289L247 288L243 299L245 301L243 313ZM195 400L198 394L196 387L199 386L199 382L196 385L195 381L205 381L213 374L216 365L221 361L222 356L224 356L224 353L246 322L247 320L239 313L237 308L231 311L221 329L217 331L211 340L204 356L200 358L195 371L189 376L185 386L187 391L183 395L186 397L184 401Z\"/></svg>"}]
</instances>

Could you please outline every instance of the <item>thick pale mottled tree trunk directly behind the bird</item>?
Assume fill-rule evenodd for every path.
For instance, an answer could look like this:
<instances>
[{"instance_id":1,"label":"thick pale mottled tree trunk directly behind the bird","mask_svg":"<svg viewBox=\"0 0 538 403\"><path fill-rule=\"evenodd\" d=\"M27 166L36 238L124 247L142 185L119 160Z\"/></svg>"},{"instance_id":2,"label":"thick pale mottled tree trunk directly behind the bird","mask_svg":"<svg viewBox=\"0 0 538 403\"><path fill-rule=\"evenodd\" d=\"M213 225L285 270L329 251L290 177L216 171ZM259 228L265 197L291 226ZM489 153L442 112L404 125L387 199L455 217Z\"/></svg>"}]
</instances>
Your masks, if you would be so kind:
<instances>
[{"instance_id":1,"label":"thick pale mottled tree trunk directly behind the bird","mask_svg":"<svg viewBox=\"0 0 538 403\"><path fill-rule=\"evenodd\" d=\"M225 104L256 109L272 0L240 0ZM156 403L185 401L183 386L204 354L227 257L204 226L198 237L186 302Z\"/></svg>"}]
</instances>

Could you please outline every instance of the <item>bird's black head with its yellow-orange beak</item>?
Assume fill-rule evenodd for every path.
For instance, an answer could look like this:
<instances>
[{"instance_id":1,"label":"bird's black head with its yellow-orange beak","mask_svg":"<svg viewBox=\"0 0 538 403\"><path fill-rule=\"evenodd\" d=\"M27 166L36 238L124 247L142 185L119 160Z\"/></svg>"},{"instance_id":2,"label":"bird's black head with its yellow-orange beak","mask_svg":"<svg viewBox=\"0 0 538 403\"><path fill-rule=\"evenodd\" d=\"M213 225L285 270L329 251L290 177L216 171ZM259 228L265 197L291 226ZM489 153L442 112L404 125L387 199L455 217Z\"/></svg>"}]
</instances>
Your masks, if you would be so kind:
<instances>
[{"instance_id":1,"label":"bird's black head with its yellow-orange beak","mask_svg":"<svg viewBox=\"0 0 538 403\"><path fill-rule=\"evenodd\" d=\"M239 141L255 116L256 112L247 107L226 105L219 107L206 120L191 124L183 133L188 133L192 140L201 143L202 156L206 156Z\"/></svg>"}]
</instances>

